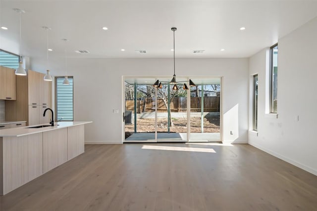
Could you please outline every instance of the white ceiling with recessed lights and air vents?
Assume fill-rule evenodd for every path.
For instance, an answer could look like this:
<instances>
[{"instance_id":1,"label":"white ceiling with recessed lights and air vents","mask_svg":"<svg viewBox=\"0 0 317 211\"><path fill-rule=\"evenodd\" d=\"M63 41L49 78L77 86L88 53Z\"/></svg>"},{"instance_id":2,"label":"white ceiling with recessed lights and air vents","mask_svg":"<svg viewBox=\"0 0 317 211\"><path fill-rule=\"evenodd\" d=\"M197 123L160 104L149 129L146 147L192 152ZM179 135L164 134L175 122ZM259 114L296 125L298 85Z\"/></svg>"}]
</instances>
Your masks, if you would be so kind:
<instances>
[{"instance_id":1,"label":"white ceiling with recessed lights and air vents","mask_svg":"<svg viewBox=\"0 0 317 211\"><path fill-rule=\"evenodd\" d=\"M52 28L50 56L56 58L64 56L63 38L69 40L68 57L171 58L171 27L177 27L176 58L232 58L249 57L317 16L315 0L0 0L0 26L8 28L0 30L0 48L14 53L19 53L19 14L12 8L26 11L22 55L45 60L42 26Z\"/></svg>"}]
</instances>

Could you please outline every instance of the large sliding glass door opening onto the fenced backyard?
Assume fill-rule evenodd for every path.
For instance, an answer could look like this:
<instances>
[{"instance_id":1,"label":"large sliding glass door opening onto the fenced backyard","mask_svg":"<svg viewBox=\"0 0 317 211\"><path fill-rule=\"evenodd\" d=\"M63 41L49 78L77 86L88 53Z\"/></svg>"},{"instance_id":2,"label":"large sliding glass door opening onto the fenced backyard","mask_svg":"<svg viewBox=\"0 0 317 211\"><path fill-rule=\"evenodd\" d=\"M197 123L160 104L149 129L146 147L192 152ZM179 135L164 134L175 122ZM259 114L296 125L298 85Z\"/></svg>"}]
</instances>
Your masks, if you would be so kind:
<instances>
[{"instance_id":1,"label":"large sliding glass door opening onto the fenced backyard","mask_svg":"<svg viewBox=\"0 0 317 211\"><path fill-rule=\"evenodd\" d=\"M192 80L190 90L173 90L168 77L125 78L124 142L220 141L221 78Z\"/></svg>"}]
</instances>

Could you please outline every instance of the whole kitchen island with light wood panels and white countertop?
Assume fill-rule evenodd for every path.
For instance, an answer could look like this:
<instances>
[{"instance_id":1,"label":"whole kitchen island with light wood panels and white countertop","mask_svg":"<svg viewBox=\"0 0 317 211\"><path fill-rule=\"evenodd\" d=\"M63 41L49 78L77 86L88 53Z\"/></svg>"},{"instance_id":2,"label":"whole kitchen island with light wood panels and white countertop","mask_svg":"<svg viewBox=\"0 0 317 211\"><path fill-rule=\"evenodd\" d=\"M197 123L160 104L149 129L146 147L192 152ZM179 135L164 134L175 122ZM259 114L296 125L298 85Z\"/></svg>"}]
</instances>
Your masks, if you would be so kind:
<instances>
[{"instance_id":1,"label":"whole kitchen island with light wood panels and white countertop","mask_svg":"<svg viewBox=\"0 0 317 211\"><path fill-rule=\"evenodd\" d=\"M0 194L84 153L84 125L88 123L92 122L0 130Z\"/></svg>"}]
</instances>

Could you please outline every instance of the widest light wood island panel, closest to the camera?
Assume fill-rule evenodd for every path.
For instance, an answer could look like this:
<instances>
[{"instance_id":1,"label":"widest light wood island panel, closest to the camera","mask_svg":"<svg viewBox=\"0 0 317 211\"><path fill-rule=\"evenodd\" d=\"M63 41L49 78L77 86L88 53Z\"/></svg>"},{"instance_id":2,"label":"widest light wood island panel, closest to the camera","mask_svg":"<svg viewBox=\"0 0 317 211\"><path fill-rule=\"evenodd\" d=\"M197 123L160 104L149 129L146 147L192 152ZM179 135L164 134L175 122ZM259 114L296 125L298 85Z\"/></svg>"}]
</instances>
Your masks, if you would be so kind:
<instances>
[{"instance_id":1,"label":"widest light wood island panel, closest to the camera","mask_svg":"<svg viewBox=\"0 0 317 211\"><path fill-rule=\"evenodd\" d=\"M43 133L1 137L2 193L35 179L43 173Z\"/></svg>"}]
</instances>

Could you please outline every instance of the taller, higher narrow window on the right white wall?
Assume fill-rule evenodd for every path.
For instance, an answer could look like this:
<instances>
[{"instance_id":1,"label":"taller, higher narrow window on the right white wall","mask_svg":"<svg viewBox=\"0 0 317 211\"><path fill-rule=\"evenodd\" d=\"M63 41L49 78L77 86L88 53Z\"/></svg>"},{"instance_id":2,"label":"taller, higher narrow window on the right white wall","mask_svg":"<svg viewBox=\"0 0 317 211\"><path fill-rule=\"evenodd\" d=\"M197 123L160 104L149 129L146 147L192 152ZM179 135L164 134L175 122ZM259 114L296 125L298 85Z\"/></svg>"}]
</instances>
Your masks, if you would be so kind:
<instances>
[{"instance_id":1,"label":"taller, higher narrow window on the right white wall","mask_svg":"<svg viewBox=\"0 0 317 211\"><path fill-rule=\"evenodd\" d=\"M270 48L270 113L277 113L277 43Z\"/></svg>"}]
</instances>

